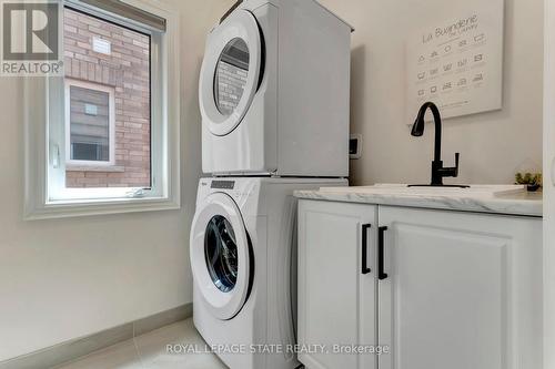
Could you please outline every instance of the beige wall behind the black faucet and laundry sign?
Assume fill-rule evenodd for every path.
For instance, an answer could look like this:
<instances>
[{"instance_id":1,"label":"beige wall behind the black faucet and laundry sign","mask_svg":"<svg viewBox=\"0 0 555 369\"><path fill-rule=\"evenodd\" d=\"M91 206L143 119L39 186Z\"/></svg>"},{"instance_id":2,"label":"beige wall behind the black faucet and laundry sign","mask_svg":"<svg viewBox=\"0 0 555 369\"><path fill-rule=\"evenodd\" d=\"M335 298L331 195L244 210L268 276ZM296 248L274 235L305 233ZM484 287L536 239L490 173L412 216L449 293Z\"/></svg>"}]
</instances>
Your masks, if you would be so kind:
<instances>
[{"instance_id":1,"label":"beige wall behind the black faucet and laundry sign","mask_svg":"<svg viewBox=\"0 0 555 369\"><path fill-rule=\"evenodd\" d=\"M364 144L363 158L352 162L352 183L430 181L434 129L420 139L410 134L404 41L472 1L484 0L321 0L356 28L352 132L362 133ZM543 1L506 0L505 16L504 109L444 122L443 160L451 166L461 152L461 183L512 183L522 163L542 167Z\"/></svg>"}]
</instances>

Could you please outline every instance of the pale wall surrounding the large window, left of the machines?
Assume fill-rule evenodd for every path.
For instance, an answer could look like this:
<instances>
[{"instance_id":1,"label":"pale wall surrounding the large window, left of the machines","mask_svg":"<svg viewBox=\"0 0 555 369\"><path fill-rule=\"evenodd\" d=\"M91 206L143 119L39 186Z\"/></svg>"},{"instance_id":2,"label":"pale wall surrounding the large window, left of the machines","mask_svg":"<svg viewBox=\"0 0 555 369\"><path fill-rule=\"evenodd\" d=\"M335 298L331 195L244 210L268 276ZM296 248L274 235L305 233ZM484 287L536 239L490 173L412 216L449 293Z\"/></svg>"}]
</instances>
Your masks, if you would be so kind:
<instances>
[{"instance_id":1,"label":"pale wall surrounding the large window, left of the machines","mask_svg":"<svg viewBox=\"0 0 555 369\"><path fill-rule=\"evenodd\" d=\"M179 212L23 222L22 86L0 78L0 361L192 301L198 74L205 34L232 1L172 2L183 65Z\"/></svg>"}]
</instances>

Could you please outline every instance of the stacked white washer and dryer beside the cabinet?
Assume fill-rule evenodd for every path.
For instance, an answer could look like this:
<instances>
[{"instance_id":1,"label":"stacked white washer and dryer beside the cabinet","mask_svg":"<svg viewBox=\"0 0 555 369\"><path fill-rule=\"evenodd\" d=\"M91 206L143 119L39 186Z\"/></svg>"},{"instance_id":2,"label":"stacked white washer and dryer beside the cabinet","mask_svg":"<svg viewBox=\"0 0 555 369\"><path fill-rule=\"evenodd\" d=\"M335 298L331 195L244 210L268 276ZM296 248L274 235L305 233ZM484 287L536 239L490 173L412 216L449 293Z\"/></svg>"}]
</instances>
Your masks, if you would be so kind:
<instances>
[{"instance_id":1,"label":"stacked white washer and dryer beside the cabinet","mask_svg":"<svg viewBox=\"0 0 555 369\"><path fill-rule=\"evenodd\" d=\"M347 184L351 32L315 0L245 0L208 37L193 320L231 369L300 365L293 192Z\"/></svg>"}]
</instances>

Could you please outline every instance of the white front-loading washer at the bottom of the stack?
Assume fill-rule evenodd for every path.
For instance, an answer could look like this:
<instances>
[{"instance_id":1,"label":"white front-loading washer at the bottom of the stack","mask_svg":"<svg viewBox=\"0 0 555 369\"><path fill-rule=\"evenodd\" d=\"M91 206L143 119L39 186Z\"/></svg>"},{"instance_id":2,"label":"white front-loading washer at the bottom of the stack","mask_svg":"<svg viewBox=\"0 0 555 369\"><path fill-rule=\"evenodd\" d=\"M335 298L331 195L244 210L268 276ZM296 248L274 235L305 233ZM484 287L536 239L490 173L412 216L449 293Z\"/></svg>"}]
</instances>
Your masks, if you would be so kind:
<instances>
[{"instance_id":1,"label":"white front-loading washer at the bottom of the stack","mask_svg":"<svg viewBox=\"0 0 555 369\"><path fill-rule=\"evenodd\" d=\"M345 180L269 177L200 181L190 242L193 319L231 369L299 366L290 349L296 341L293 191L346 184ZM262 348L272 346L258 345L278 346L269 353Z\"/></svg>"}]
</instances>

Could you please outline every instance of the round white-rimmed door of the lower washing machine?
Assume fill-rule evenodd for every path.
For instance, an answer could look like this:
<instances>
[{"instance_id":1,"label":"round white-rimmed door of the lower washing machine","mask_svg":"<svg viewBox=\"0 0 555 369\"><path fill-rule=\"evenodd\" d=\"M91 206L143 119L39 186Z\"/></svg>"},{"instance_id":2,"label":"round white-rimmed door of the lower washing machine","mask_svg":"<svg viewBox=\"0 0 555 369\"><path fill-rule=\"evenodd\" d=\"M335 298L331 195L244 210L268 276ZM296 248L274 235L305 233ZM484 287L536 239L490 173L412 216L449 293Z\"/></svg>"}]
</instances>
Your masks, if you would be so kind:
<instances>
[{"instance_id":1,"label":"round white-rimmed door of the lower washing machine","mask_svg":"<svg viewBox=\"0 0 555 369\"><path fill-rule=\"evenodd\" d=\"M250 247L233 199L212 194L199 208L191 228L191 267L211 312L233 318L249 297Z\"/></svg>"}]
</instances>

